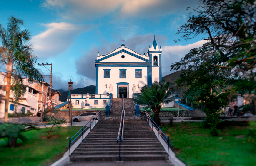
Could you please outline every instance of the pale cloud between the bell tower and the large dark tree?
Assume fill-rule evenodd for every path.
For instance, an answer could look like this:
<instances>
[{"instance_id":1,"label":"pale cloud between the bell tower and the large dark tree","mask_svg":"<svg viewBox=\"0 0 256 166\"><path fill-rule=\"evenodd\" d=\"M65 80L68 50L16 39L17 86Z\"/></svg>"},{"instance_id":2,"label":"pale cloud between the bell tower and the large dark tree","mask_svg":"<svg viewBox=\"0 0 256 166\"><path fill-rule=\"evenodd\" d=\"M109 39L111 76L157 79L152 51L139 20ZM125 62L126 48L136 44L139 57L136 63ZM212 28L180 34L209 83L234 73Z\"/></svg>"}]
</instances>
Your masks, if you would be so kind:
<instances>
[{"instance_id":1,"label":"pale cloud between the bell tower and the large dark tree","mask_svg":"<svg viewBox=\"0 0 256 166\"><path fill-rule=\"evenodd\" d=\"M175 62L179 62L181 58L186 55L191 49L193 48L199 48L204 43L206 43L206 40L200 40L198 42L195 42L193 44L188 44L185 46L181 45L175 45L175 46L164 46L162 49L162 75L168 75L172 72L171 71L171 65Z\"/></svg>"}]
</instances>

